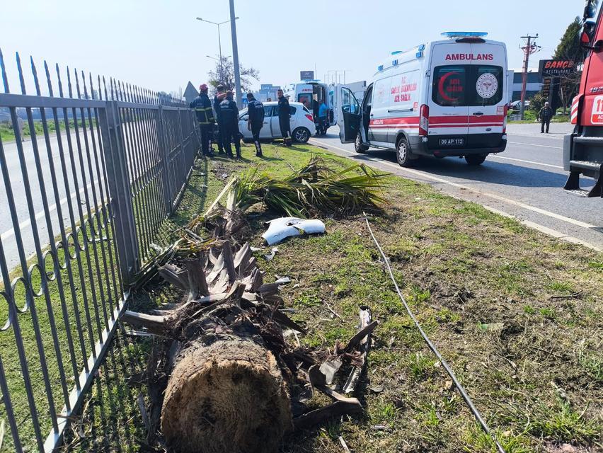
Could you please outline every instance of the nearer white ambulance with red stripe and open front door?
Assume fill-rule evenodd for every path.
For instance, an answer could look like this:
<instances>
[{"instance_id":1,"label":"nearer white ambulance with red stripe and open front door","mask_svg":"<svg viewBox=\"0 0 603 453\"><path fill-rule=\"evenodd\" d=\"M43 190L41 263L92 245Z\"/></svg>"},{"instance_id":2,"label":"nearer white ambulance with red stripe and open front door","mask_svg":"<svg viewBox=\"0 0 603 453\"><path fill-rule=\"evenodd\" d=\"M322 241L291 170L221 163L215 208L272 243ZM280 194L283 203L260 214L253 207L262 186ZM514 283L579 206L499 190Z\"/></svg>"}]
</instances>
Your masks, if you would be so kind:
<instances>
[{"instance_id":1,"label":"nearer white ambulance with red stripe and open front door","mask_svg":"<svg viewBox=\"0 0 603 453\"><path fill-rule=\"evenodd\" d=\"M444 39L392 52L377 67L362 104L333 87L342 143L396 151L398 164L420 156L464 157L480 165L507 146L512 71L503 42L487 33L447 32Z\"/></svg>"}]
</instances>

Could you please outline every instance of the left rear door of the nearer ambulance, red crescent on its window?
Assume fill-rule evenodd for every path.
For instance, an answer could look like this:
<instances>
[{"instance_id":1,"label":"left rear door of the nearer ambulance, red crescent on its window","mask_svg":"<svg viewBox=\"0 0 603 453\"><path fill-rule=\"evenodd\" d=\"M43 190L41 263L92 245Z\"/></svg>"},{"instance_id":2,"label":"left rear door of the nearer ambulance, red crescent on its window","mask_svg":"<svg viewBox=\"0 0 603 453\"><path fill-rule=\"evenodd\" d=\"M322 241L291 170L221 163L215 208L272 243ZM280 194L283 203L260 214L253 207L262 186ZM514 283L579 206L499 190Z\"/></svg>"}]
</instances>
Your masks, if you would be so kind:
<instances>
[{"instance_id":1,"label":"left rear door of the nearer ambulance, red crescent on its window","mask_svg":"<svg viewBox=\"0 0 603 453\"><path fill-rule=\"evenodd\" d=\"M467 144L469 133L469 62L471 44L441 42L431 52L431 86L427 96L429 107L430 149L457 149ZM469 57L471 58L471 57Z\"/></svg>"}]
</instances>

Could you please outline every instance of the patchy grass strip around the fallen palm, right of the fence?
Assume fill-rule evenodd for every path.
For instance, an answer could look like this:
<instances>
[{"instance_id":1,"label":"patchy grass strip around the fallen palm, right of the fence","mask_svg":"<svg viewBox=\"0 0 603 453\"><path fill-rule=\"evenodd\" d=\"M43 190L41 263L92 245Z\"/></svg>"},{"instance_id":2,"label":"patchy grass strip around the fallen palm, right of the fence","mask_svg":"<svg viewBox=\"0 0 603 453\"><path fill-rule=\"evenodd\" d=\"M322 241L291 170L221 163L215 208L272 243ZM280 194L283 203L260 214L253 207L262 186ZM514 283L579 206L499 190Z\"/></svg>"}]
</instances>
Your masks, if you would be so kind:
<instances>
[{"instance_id":1,"label":"patchy grass strip around the fallen palm, right of the fence","mask_svg":"<svg viewBox=\"0 0 603 453\"><path fill-rule=\"evenodd\" d=\"M264 159L202 161L170 220L172 231L251 166L285 175L312 154L335 167L349 164L309 145L263 148ZM243 147L243 156L251 149ZM577 452L602 449L603 254L403 178L392 178L386 198L389 205L371 222L398 284L506 451L556 452L564 443ZM263 222L274 217L259 205L248 215L252 245L260 246ZM339 436L356 452L494 451L406 314L363 219L324 220L326 234L280 243L270 261L261 258L269 248L256 254L265 281L292 279L282 296L309 330L300 338L306 345L332 347L350 338L358 307L371 306L381 324L361 386L366 411L296 433L282 452L340 452ZM132 304L150 308L177 296L154 283ZM146 360L151 341L132 342L132 357ZM121 379L129 384L115 390L129 409L103 422L137 425L130 447L120 442L123 429L96 425L102 437L86 428L90 434L71 451L138 451L144 426L135 396L145 389L135 377L126 373ZM102 405L98 396L90 401L86 420L95 426L93 420L104 420Z\"/></svg>"}]
</instances>

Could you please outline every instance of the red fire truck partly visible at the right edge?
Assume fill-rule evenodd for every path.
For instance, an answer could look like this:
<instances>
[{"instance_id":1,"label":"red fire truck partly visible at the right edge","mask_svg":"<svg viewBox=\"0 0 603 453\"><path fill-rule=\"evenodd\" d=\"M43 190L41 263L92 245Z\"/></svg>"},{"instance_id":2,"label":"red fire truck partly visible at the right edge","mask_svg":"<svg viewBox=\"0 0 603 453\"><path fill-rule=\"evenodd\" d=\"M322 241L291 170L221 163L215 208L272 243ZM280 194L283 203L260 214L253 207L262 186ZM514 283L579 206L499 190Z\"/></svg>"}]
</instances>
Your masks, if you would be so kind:
<instances>
[{"instance_id":1,"label":"red fire truck partly visible at the right edge","mask_svg":"<svg viewBox=\"0 0 603 453\"><path fill-rule=\"evenodd\" d=\"M583 197L603 197L603 0L588 0L580 41L588 50L580 91L573 99L575 129L563 142L563 168L570 172L565 190ZM595 178L590 190L580 189L580 175Z\"/></svg>"}]
</instances>

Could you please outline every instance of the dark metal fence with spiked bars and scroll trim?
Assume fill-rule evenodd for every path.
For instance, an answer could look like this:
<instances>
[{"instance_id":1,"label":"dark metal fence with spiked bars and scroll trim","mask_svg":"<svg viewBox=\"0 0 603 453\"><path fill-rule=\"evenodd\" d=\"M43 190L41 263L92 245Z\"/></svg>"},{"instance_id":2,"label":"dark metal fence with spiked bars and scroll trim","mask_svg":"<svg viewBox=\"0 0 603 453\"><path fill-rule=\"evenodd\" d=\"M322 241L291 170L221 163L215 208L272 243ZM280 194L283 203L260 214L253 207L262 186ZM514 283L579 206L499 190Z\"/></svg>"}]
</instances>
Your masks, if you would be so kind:
<instances>
[{"instance_id":1,"label":"dark metal fence with spiked bars and scroll trim","mask_svg":"<svg viewBox=\"0 0 603 453\"><path fill-rule=\"evenodd\" d=\"M46 62L39 77L30 65L26 80L16 56L11 93L0 51L0 431L3 451L50 452L199 142L181 101Z\"/></svg>"}]
</instances>

